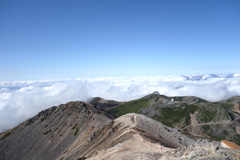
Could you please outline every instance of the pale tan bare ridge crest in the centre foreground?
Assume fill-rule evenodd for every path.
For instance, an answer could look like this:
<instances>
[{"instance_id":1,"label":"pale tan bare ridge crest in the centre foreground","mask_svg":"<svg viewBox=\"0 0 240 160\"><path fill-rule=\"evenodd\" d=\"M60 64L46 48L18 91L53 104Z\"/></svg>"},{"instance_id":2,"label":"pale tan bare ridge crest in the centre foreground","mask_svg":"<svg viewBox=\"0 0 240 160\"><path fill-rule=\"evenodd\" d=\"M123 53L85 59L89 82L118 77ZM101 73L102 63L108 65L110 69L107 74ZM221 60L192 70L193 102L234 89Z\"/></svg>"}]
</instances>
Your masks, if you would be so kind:
<instances>
[{"instance_id":1,"label":"pale tan bare ridge crest in the centre foreground","mask_svg":"<svg viewBox=\"0 0 240 160\"><path fill-rule=\"evenodd\" d=\"M121 116L114 120L113 126L118 126L118 131L111 141L120 141L100 150L96 155L90 156L90 159L158 159L167 151L195 142L176 130L139 114Z\"/></svg>"}]
</instances>

